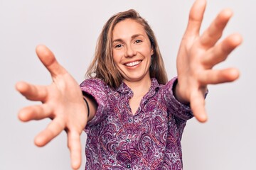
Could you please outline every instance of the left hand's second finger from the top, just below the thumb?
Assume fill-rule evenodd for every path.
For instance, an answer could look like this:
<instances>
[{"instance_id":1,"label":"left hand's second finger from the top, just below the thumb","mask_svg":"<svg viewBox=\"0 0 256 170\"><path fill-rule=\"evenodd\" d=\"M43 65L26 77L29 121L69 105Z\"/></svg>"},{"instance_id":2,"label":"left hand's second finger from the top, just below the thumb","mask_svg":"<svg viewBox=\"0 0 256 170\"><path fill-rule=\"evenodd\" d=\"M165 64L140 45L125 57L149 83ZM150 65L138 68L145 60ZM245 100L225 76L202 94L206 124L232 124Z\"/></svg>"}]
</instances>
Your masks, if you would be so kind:
<instances>
[{"instance_id":1,"label":"left hand's second finger from the top, just below the thumb","mask_svg":"<svg viewBox=\"0 0 256 170\"><path fill-rule=\"evenodd\" d=\"M48 96L46 86L36 86L26 82L18 82L16 84L16 90L31 101L44 102Z\"/></svg>"}]
</instances>

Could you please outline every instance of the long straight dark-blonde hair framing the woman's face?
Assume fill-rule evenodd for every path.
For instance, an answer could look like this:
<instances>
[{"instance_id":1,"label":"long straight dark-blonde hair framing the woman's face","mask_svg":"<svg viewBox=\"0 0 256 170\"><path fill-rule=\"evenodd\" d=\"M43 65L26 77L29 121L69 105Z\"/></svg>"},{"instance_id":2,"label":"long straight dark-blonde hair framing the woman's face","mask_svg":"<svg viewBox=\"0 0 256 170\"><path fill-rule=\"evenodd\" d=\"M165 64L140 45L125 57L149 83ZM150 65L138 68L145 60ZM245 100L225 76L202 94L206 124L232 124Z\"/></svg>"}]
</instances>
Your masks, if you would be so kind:
<instances>
[{"instance_id":1,"label":"long straight dark-blonde hair framing the woman's face","mask_svg":"<svg viewBox=\"0 0 256 170\"><path fill-rule=\"evenodd\" d=\"M86 76L89 78L102 79L113 88L120 86L123 78L114 66L112 56L112 33L114 26L127 18L133 19L134 21L137 21L137 23L141 24L151 42L154 55L152 55L151 67L149 68L150 77L155 77L157 81L159 81L159 84L166 84L168 80L167 74L154 32L151 30L146 20L139 16L139 13L134 9L117 13L112 16L107 23L105 23L105 26L102 28L102 32L97 40L95 58L88 67Z\"/></svg>"}]
</instances>

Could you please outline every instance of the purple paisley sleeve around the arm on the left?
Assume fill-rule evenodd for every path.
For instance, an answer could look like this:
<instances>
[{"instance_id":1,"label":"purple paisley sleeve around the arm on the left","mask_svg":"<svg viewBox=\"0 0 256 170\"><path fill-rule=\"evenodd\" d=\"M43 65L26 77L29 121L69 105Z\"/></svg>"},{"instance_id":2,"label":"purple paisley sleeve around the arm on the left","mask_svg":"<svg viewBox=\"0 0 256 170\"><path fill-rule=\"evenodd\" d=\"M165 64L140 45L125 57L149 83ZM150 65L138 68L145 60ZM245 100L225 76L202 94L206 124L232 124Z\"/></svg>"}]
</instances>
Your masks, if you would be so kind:
<instances>
[{"instance_id":1,"label":"purple paisley sleeve around the arm on the left","mask_svg":"<svg viewBox=\"0 0 256 170\"><path fill-rule=\"evenodd\" d=\"M90 120L86 128L97 125L106 118L107 115L107 94L109 87L101 79L86 79L80 84L83 93L92 96L97 102L97 111Z\"/></svg>"}]
</instances>

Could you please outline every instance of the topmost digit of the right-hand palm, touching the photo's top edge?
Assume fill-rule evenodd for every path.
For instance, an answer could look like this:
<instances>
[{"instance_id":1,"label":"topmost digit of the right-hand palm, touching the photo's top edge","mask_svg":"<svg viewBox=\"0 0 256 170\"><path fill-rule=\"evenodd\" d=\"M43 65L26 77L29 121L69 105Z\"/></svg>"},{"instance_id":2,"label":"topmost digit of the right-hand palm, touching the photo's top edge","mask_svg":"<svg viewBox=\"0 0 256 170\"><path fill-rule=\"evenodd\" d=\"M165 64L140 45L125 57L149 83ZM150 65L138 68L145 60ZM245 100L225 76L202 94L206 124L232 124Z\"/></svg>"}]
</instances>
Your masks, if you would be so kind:
<instances>
[{"instance_id":1,"label":"topmost digit of the right-hand palm, touching the photo's top edge","mask_svg":"<svg viewBox=\"0 0 256 170\"><path fill-rule=\"evenodd\" d=\"M185 31L184 37L197 36L203 21L203 13L206 10L206 0L197 0L191 7L188 18L188 26Z\"/></svg>"}]
</instances>

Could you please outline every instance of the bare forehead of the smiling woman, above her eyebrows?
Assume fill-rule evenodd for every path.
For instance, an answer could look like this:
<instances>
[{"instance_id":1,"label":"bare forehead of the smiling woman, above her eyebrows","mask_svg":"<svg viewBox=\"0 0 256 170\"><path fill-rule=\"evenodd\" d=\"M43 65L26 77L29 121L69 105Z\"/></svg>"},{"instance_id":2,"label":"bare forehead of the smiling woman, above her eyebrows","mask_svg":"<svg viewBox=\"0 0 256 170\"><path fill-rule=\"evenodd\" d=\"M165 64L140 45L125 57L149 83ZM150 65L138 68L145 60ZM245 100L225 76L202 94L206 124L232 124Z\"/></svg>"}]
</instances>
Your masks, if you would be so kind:
<instances>
[{"instance_id":1,"label":"bare forehead of the smiling woman, above her eyebrows","mask_svg":"<svg viewBox=\"0 0 256 170\"><path fill-rule=\"evenodd\" d=\"M142 24L137 21L127 18L124 21L120 21L114 26L112 38L131 38L132 35L144 35L146 36L146 30Z\"/></svg>"}]
</instances>

